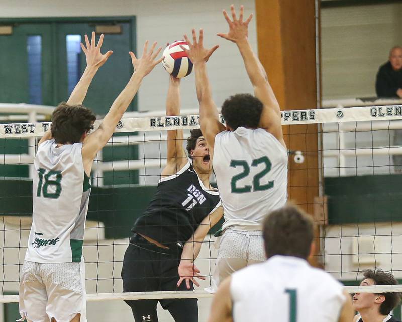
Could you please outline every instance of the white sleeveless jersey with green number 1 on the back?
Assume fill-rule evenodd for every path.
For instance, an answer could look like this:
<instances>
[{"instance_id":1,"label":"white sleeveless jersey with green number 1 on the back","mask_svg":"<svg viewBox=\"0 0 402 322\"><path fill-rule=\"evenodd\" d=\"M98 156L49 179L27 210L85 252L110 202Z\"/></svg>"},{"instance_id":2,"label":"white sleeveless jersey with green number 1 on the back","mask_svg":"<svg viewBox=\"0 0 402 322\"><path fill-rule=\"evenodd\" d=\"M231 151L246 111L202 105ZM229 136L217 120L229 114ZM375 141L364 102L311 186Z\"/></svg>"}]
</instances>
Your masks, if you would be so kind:
<instances>
[{"instance_id":1,"label":"white sleeveless jersey with green number 1 on the back","mask_svg":"<svg viewBox=\"0 0 402 322\"><path fill-rule=\"evenodd\" d=\"M233 320L338 322L346 301L342 284L292 256L273 256L231 277Z\"/></svg>"}]
</instances>

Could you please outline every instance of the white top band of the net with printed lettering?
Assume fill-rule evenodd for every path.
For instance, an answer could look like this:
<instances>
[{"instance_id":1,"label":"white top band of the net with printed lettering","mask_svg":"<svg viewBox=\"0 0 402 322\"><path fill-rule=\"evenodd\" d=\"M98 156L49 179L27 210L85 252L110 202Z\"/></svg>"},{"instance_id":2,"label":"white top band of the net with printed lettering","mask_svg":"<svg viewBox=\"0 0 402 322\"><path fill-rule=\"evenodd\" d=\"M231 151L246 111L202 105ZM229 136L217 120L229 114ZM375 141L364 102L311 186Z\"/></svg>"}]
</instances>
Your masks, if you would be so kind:
<instances>
[{"instance_id":1,"label":"white top band of the net with printed lettering","mask_svg":"<svg viewBox=\"0 0 402 322\"><path fill-rule=\"evenodd\" d=\"M282 125L402 120L402 105L344 107L282 111ZM222 115L221 122L224 123ZM102 120L96 120L96 129ZM42 136L50 122L9 123L0 126L0 138ZM199 115L128 118L119 121L115 132L184 130L199 128Z\"/></svg>"}]
</instances>

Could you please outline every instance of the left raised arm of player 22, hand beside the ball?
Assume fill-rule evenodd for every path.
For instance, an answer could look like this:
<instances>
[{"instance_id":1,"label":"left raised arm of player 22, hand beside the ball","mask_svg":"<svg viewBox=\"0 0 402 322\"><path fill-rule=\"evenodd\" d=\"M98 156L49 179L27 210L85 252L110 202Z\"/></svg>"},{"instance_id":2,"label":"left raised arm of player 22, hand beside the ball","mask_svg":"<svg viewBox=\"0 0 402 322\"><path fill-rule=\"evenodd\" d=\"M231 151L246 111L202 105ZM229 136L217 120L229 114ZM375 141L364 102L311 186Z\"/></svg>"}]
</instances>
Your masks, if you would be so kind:
<instances>
[{"instance_id":1,"label":"left raised arm of player 22, hand beside the ball","mask_svg":"<svg viewBox=\"0 0 402 322\"><path fill-rule=\"evenodd\" d=\"M210 148L214 148L215 135L225 130L225 127L219 120L217 106L212 99L212 91L210 81L207 75L206 62L211 57L212 53L219 47L218 45L211 49L204 48L203 45L203 30L199 31L199 39L195 30L192 30L192 43L187 35L184 39L190 47L189 50L180 46L181 49L187 52L188 57L192 61L195 69L195 87L197 90L197 98L199 102L199 122L201 131L207 140Z\"/></svg>"}]
</instances>

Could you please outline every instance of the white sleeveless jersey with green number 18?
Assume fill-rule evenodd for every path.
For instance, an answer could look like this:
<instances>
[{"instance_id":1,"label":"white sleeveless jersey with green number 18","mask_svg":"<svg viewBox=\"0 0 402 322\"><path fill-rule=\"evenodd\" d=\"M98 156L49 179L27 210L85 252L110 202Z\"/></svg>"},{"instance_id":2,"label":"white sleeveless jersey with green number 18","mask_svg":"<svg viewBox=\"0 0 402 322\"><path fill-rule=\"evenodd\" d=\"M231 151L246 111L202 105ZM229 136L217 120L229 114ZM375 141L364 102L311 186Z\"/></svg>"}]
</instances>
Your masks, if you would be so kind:
<instances>
[{"instance_id":1,"label":"white sleeveless jersey with green number 18","mask_svg":"<svg viewBox=\"0 0 402 322\"><path fill-rule=\"evenodd\" d=\"M57 147L54 140L45 141L38 148L27 261L81 261L90 194L81 148L82 143Z\"/></svg>"}]
</instances>

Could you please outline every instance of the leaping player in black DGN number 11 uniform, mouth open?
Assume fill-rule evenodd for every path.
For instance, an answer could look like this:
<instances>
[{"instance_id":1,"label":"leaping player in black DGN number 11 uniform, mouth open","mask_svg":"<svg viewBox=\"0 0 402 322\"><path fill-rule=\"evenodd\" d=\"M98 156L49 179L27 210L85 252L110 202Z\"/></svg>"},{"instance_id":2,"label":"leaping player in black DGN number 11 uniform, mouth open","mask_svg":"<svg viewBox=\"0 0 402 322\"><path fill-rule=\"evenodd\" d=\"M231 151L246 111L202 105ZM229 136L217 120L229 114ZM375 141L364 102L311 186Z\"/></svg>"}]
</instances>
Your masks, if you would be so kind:
<instances>
[{"instance_id":1,"label":"leaping player in black DGN number 11 uniform, mouth open","mask_svg":"<svg viewBox=\"0 0 402 322\"><path fill-rule=\"evenodd\" d=\"M170 78L166 115L180 112L180 80ZM218 191L210 186L212 160L200 130L187 138L183 131L167 133L167 164L156 193L136 220L123 261L124 292L192 289L194 277L203 279L193 261L201 241L223 215ZM181 262L181 264L180 264ZM180 264L180 276L178 274ZM178 280L180 278L180 282ZM181 283L185 280L185 283ZM198 321L197 299L126 300L136 322L158 321L160 302L176 322Z\"/></svg>"}]
</instances>

